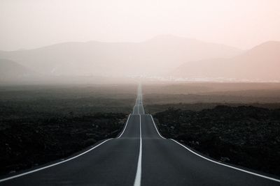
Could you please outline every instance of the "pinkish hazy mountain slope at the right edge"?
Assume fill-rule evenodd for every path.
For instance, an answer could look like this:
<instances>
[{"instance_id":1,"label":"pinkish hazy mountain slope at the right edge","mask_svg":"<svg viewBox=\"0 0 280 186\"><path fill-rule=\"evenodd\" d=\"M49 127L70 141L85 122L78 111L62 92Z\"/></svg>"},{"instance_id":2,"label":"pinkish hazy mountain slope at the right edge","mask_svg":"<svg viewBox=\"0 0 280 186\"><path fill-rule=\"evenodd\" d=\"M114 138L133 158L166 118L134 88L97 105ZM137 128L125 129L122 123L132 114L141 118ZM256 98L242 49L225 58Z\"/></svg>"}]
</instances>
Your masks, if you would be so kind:
<instances>
[{"instance_id":1,"label":"pinkish hazy mountain slope at the right edge","mask_svg":"<svg viewBox=\"0 0 280 186\"><path fill-rule=\"evenodd\" d=\"M280 81L280 42L269 41L228 59L191 61L172 71L174 77Z\"/></svg>"}]
</instances>

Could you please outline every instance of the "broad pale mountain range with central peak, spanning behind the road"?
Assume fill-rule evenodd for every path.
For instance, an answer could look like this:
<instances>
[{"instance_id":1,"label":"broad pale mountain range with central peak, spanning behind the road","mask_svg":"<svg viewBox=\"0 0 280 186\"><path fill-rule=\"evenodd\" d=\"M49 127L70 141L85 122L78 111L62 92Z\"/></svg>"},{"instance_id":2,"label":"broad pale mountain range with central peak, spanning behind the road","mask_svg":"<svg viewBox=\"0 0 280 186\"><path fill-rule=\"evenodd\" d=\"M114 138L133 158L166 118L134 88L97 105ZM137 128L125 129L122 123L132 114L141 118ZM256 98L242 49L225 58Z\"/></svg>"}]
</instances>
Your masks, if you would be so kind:
<instances>
[{"instance_id":1,"label":"broad pale mountain range with central peak, spanning behind the road","mask_svg":"<svg viewBox=\"0 0 280 186\"><path fill-rule=\"evenodd\" d=\"M160 75L186 61L231 57L234 47L176 36L145 42L65 42L38 49L0 52L45 75L132 76Z\"/></svg>"}]
</instances>

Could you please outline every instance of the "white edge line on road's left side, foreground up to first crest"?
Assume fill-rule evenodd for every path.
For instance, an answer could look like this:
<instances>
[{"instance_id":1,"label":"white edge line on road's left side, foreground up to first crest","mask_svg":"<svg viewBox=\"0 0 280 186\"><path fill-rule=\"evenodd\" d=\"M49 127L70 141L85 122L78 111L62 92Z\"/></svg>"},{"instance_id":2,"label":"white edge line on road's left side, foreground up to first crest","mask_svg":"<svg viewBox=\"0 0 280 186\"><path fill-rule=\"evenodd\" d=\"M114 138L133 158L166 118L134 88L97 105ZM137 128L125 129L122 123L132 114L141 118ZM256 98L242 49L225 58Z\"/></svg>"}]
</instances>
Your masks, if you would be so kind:
<instances>
[{"instance_id":1,"label":"white edge line on road's left side, foreground up to first crest","mask_svg":"<svg viewBox=\"0 0 280 186\"><path fill-rule=\"evenodd\" d=\"M111 139L112 139L112 138L111 138ZM57 164L63 164L64 162L68 162L68 161L70 161L70 160L75 159L76 157L79 157L79 156L81 156L81 155L84 155L85 153L90 152L90 151L93 150L94 148L97 148L98 146L101 146L101 145L104 144L106 141L109 141L109 140L111 140L111 139L106 139L105 141L103 141L102 143L98 144L97 146L94 146L93 148L90 148L89 150L86 150L85 152L80 153L79 155L76 155L76 156L74 156L74 157L70 157L70 158L67 159L67 160L63 160L62 162L57 162L57 163L55 163L55 164L50 164L50 165L48 165L48 166L43 166L43 167L41 167L41 168L39 168L39 169L35 169L35 170L28 171L28 172L25 172L25 173L20 173L20 174L18 174L18 175L10 176L10 177L8 177L8 178L3 178L3 179L0 180L0 183L1 183L1 182L4 182L4 181L6 181L6 180L11 180L11 179L13 179L13 178L18 178L18 177L20 177L20 176L25 176L25 175L27 175L27 174L29 174L29 173L34 173L34 172L37 172L37 171L41 171L41 170L43 170L43 169L48 169L48 168L50 168L50 167L52 167L52 166L56 166Z\"/></svg>"}]
</instances>

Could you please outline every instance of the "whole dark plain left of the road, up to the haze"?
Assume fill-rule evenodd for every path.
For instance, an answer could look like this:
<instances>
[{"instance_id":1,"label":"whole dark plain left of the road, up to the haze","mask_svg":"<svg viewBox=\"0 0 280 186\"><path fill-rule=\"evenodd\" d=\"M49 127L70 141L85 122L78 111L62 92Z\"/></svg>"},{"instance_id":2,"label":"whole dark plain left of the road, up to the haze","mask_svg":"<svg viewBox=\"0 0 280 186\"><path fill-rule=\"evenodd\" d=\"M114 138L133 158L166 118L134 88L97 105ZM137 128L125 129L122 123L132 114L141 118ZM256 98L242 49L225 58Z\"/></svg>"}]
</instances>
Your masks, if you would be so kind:
<instances>
[{"instance_id":1,"label":"whole dark plain left of the road, up to the haze","mask_svg":"<svg viewBox=\"0 0 280 186\"><path fill-rule=\"evenodd\" d=\"M134 94L133 86L0 86L0 174L116 137Z\"/></svg>"}]
</instances>

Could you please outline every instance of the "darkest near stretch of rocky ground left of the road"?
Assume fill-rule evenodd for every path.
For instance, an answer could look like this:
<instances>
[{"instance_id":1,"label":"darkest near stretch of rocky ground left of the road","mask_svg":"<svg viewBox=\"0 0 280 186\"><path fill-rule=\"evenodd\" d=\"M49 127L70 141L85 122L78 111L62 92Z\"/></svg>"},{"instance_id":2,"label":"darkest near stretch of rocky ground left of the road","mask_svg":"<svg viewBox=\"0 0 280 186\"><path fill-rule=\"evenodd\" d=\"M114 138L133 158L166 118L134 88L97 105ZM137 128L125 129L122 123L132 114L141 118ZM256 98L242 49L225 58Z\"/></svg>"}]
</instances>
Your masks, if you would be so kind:
<instances>
[{"instance_id":1,"label":"darkest near stretch of rocky ground left of the road","mask_svg":"<svg viewBox=\"0 0 280 186\"><path fill-rule=\"evenodd\" d=\"M0 173L31 168L67 157L99 140L116 137L125 114L13 119L0 123Z\"/></svg>"}]
</instances>

